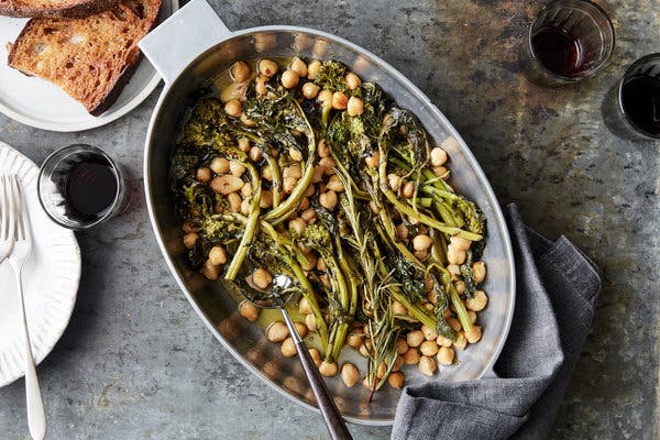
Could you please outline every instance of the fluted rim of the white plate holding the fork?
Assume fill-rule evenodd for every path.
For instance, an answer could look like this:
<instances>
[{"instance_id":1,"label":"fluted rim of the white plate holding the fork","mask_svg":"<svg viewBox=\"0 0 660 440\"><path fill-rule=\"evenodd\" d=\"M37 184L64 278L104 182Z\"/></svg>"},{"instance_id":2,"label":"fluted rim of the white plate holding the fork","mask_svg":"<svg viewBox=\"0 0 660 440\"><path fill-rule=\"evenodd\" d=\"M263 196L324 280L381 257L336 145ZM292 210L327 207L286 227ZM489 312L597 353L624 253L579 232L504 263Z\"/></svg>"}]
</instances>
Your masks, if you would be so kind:
<instances>
[{"instance_id":1,"label":"fluted rim of the white plate holding the fork","mask_svg":"<svg viewBox=\"0 0 660 440\"><path fill-rule=\"evenodd\" d=\"M34 190L36 193L36 179L38 176L38 167L36 166L36 164L34 162L32 162L30 158L28 158L25 155L20 153L19 151L16 151L15 148L11 147L10 145L8 145L3 142L0 142L0 152L2 152L3 150L8 150L9 156L16 157L16 163L18 163L18 165L15 166L16 170L20 168L24 168L24 167L28 168L28 172L23 176L21 176L21 177L25 177L29 179L28 187L24 189L30 190L30 191ZM29 196L29 197L31 197L31 196ZM37 196L35 194L32 197L37 197ZM32 202L32 205L35 205L38 207L38 209L41 209L41 205L38 204L38 200L35 200L34 202ZM47 216L45 213L44 213L44 218L47 219ZM62 229L64 240L67 241L68 242L67 244L69 245L68 249L66 250L66 252L70 253L73 264L70 265L70 271L66 274L67 278L68 278L68 283L69 283L68 284L69 289L67 289L67 292L62 292L63 294L68 295L67 301L64 302L64 307L66 307L66 308L61 310L61 314L59 314L61 321L58 321L56 326L48 327L47 334L41 334L40 340L42 342L42 348L38 352L34 352L35 364L40 364L51 353L51 351L53 351L53 348L55 346L57 341L59 341L59 339L64 334L64 331L66 330L68 322L70 320L72 314L74 312L74 307L76 304L78 287L80 284L80 274L81 274L80 248L78 246L78 242L76 240L76 235L74 234L74 232L69 231L65 228L62 228L62 227L57 226L56 223L48 224L47 228L48 229L52 229L52 228ZM32 229L33 230L35 229L35 224L32 224ZM3 264L8 264L8 263L3 263ZM28 316L28 320L30 321L30 316ZM30 324L30 327L32 328L32 324ZM18 334L20 334L19 330L20 330L20 328L16 329ZM11 337L11 336L13 336L13 333L0 334L0 338ZM31 334L31 340L33 341L32 342L33 351L34 351L34 339L35 338L36 338L35 334ZM21 346L21 348L23 346L22 341L19 344L19 346ZM0 352L0 356L6 358L3 355L3 352ZM23 375L24 375L24 371L23 371L22 364L21 364L20 369L10 369L8 374L6 374L4 376L0 375L0 388L6 385L11 384L12 382L16 381L20 377L23 377Z\"/></svg>"}]
</instances>

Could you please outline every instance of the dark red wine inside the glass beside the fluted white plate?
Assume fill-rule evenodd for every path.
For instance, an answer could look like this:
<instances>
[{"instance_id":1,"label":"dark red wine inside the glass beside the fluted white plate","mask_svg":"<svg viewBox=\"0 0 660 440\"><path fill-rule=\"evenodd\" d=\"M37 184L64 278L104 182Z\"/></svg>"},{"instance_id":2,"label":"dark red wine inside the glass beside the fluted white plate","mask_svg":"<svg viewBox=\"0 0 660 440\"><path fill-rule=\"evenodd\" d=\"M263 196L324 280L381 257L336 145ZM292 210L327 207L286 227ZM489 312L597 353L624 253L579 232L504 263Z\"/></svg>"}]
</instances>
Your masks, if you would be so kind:
<instances>
[{"instance_id":1,"label":"dark red wine inside the glass beside the fluted white plate","mask_svg":"<svg viewBox=\"0 0 660 440\"><path fill-rule=\"evenodd\" d=\"M91 158L72 166L65 179L64 194L72 213L89 219L106 215L117 190L117 176L110 165Z\"/></svg>"}]
</instances>

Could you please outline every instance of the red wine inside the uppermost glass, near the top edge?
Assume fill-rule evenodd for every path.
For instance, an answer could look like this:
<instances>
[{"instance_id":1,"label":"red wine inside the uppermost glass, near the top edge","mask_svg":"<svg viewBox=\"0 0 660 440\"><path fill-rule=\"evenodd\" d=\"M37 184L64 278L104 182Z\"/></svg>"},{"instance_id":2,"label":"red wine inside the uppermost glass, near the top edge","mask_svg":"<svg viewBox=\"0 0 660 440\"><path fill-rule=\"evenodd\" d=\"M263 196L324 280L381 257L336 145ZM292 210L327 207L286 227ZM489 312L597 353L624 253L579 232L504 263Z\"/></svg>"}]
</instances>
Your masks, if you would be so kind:
<instances>
[{"instance_id":1,"label":"red wine inside the uppermost glass, near the top edge","mask_svg":"<svg viewBox=\"0 0 660 440\"><path fill-rule=\"evenodd\" d=\"M556 75L571 77L581 72L584 56L580 41L561 28L539 29L531 37L539 62Z\"/></svg>"}]
</instances>

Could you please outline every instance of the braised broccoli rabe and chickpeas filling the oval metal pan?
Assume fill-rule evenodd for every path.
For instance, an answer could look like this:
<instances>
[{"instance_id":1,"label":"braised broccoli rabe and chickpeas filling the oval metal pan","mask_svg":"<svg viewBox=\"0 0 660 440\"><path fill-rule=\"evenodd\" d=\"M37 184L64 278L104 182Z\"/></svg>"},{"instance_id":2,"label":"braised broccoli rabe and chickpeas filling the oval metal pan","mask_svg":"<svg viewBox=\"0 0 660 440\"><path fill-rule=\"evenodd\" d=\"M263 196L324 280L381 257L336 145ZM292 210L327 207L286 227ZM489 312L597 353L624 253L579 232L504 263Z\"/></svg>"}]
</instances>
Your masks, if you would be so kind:
<instances>
[{"instance_id":1,"label":"braised broccoli rabe and chickpeas filling the oval metal pan","mask_svg":"<svg viewBox=\"0 0 660 440\"><path fill-rule=\"evenodd\" d=\"M367 360L372 395L400 388L404 364L432 374L452 363L481 338L486 228L449 184L448 152L339 62L232 69L220 99L191 109L172 158L193 267L254 300L286 275L302 298L299 326L318 334L321 373L337 374L350 345ZM348 386L356 371L342 366Z\"/></svg>"}]
</instances>

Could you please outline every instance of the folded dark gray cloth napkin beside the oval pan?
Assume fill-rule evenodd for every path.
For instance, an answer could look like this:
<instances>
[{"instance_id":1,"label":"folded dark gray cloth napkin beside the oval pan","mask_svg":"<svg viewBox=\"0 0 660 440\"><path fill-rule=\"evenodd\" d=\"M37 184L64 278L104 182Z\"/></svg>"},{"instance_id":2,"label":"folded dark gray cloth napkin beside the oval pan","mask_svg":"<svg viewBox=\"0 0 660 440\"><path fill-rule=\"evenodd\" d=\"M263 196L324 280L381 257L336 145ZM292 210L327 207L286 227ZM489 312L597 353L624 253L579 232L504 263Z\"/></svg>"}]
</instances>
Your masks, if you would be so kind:
<instances>
[{"instance_id":1,"label":"folded dark gray cloth napkin beside the oval pan","mask_svg":"<svg viewBox=\"0 0 660 440\"><path fill-rule=\"evenodd\" d=\"M407 387L395 440L548 438L594 317L598 270L568 239L552 243L506 208L517 293L496 377Z\"/></svg>"}]
</instances>

